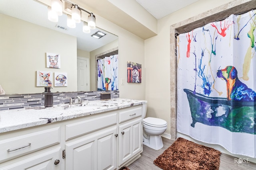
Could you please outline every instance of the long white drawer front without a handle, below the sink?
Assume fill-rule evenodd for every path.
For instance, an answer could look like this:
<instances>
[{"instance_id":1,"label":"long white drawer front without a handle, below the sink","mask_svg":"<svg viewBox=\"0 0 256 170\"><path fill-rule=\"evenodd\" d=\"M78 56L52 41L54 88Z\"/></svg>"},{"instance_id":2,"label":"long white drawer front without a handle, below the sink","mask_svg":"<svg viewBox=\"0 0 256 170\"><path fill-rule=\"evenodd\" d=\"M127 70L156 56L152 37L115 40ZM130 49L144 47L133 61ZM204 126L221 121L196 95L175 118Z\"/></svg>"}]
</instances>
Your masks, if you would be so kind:
<instances>
[{"instance_id":1,"label":"long white drawer front without a handle, below the sink","mask_svg":"<svg viewBox=\"0 0 256 170\"><path fill-rule=\"evenodd\" d=\"M103 115L100 117L91 118L77 123L66 125L66 141L74 137L82 136L87 133L115 125L117 120L117 113Z\"/></svg>"}]
</instances>

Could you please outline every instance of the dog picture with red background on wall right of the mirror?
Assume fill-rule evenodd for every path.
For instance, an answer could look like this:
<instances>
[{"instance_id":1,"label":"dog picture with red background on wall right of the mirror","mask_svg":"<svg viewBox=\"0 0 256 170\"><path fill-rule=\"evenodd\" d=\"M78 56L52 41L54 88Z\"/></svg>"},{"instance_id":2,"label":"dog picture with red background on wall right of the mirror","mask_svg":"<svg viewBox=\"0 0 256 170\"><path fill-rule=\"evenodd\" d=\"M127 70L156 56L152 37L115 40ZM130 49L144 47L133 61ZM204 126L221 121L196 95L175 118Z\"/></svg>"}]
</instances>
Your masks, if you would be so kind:
<instances>
[{"instance_id":1,"label":"dog picture with red background on wall right of the mirror","mask_svg":"<svg viewBox=\"0 0 256 170\"><path fill-rule=\"evenodd\" d=\"M141 64L127 62L127 82L141 83Z\"/></svg>"}]
</instances>

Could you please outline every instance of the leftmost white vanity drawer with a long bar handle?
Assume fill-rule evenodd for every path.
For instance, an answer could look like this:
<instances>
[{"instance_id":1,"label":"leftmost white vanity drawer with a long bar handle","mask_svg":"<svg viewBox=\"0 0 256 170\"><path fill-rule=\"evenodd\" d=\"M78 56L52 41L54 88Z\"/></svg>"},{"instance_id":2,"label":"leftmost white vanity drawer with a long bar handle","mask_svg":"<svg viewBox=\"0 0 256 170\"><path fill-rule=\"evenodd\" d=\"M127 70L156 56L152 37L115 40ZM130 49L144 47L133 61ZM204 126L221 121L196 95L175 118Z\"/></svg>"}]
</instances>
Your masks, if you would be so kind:
<instances>
[{"instance_id":1,"label":"leftmost white vanity drawer with a long bar handle","mask_svg":"<svg viewBox=\"0 0 256 170\"><path fill-rule=\"evenodd\" d=\"M0 141L0 162L60 143L60 127Z\"/></svg>"}]
</instances>

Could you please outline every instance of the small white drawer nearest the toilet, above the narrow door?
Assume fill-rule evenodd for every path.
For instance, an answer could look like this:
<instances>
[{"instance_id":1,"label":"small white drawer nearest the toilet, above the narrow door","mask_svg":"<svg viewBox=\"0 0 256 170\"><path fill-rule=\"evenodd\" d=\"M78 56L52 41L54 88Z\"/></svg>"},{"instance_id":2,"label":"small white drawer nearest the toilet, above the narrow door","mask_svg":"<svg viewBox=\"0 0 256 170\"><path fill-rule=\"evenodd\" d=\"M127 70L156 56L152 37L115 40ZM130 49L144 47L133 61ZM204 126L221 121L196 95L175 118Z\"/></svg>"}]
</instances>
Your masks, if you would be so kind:
<instances>
[{"instance_id":1,"label":"small white drawer nearest the toilet, above the narrow door","mask_svg":"<svg viewBox=\"0 0 256 170\"><path fill-rule=\"evenodd\" d=\"M136 108L129 108L124 111L119 112L119 123L122 123L124 121L133 119L135 117L139 117L142 115L142 106L138 106Z\"/></svg>"}]
</instances>

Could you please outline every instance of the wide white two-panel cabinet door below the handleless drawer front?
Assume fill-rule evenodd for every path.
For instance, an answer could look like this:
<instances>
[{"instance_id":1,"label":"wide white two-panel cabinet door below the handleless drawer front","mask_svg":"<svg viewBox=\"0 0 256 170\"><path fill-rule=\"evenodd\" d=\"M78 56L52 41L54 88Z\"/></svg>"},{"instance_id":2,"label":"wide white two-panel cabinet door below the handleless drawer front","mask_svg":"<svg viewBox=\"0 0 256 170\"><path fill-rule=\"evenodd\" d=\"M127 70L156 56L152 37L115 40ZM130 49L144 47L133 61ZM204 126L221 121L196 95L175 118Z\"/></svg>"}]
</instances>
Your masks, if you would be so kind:
<instances>
[{"instance_id":1,"label":"wide white two-panel cabinet door below the handleless drawer front","mask_svg":"<svg viewBox=\"0 0 256 170\"><path fill-rule=\"evenodd\" d=\"M66 144L66 170L115 169L116 132L112 127Z\"/></svg>"}]
</instances>

